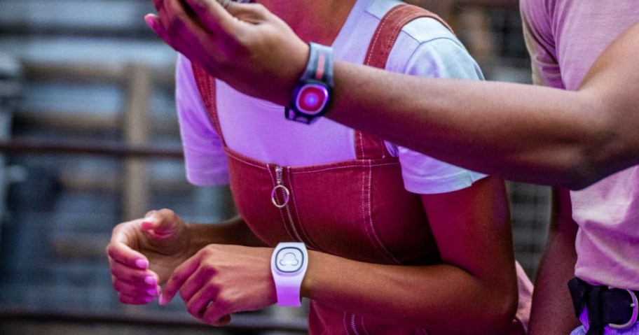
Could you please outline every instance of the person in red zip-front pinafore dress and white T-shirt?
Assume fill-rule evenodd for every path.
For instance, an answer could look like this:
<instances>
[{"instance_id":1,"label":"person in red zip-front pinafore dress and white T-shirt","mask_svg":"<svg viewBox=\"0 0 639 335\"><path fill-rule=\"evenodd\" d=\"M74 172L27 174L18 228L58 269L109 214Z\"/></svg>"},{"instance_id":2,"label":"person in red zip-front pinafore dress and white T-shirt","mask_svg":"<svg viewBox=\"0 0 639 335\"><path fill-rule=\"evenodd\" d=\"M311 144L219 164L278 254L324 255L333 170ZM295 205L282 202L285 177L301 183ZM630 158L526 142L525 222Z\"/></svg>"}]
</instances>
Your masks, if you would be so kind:
<instances>
[{"instance_id":1,"label":"person in red zip-front pinafore dress and white T-shirt","mask_svg":"<svg viewBox=\"0 0 639 335\"><path fill-rule=\"evenodd\" d=\"M271 10L287 8L281 1L265 3ZM469 59L430 13L399 1L339 4L343 16L333 19L341 29L310 31L308 39L334 41L336 50L360 50L344 57L406 73L420 67L413 65L414 55L429 55L419 60L435 64L431 71L450 71L438 67L437 57L459 64ZM422 16L428 18L415 20ZM422 30L428 38L415 32ZM368 43L380 39L387 42ZM396 52L397 45L407 50ZM457 54L439 55L450 50ZM186 76L188 83L191 69L184 64L181 59L178 80ZM476 65L465 69L476 71ZM228 313L275 302L270 252L279 242L301 241L311 250L301 287L302 296L311 299L311 334L525 332L532 287L514 266L502 180L328 120L310 128L282 122L279 113L247 119L266 115L252 108L283 108L245 97L198 66L192 72L195 82L190 81L197 83L206 108L185 111L197 108L197 99L188 99L195 107L180 111L189 179L224 182L219 171L228 169L241 218L224 225L186 225L164 210L118 225L109 256L121 301L148 303L158 294L157 284L171 276L160 304L179 290L189 313L221 325ZM179 85L178 97L188 97L186 87ZM204 129L191 125L207 122ZM207 162L205 157L220 158L216 148L224 150L228 164ZM438 178L425 183L424 174L413 170ZM284 189L286 194L280 192Z\"/></svg>"}]
</instances>

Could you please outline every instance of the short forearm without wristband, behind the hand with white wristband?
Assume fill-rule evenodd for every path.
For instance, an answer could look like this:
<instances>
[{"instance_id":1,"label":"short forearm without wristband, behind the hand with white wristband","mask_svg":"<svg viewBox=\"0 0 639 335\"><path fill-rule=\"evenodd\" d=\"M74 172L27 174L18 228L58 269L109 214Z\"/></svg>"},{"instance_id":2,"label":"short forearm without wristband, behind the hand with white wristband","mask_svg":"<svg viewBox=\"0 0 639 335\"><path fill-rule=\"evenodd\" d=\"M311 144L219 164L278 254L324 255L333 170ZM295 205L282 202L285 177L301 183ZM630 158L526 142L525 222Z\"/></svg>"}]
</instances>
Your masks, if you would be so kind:
<instances>
[{"instance_id":1,"label":"short forearm without wristband, behind the hand with white wristband","mask_svg":"<svg viewBox=\"0 0 639 335\"><path fill-rule=\"evenodd\" d=\"M189 223L187 229L191 237L191 255L209 244L266 246L240 216L216 224Z\"/></svg>"}]
</instances>

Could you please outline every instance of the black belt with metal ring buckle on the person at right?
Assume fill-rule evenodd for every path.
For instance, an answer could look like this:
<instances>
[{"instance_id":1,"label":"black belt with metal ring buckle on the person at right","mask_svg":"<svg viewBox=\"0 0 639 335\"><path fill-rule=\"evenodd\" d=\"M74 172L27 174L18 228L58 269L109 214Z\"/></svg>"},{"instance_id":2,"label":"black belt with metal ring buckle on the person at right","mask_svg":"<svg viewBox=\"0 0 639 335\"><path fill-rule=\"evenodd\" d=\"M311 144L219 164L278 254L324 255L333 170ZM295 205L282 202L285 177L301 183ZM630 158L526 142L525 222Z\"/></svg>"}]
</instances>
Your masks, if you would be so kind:
<instances>
[{"instance_id":1,"label":"black belt with metal ring buckle on the person at right","mask_svg":"<svg viewBox=\"0 0 639 335\"><path fill-rule=\"evenodd\" d=\"M588 310L587 335L603 334L607 325L614 329L633 327L639 317L637 292L607 286L593 286L579 278L568 282L572 306L579 318L584 306Z\"/></svg>"}]
</instances>

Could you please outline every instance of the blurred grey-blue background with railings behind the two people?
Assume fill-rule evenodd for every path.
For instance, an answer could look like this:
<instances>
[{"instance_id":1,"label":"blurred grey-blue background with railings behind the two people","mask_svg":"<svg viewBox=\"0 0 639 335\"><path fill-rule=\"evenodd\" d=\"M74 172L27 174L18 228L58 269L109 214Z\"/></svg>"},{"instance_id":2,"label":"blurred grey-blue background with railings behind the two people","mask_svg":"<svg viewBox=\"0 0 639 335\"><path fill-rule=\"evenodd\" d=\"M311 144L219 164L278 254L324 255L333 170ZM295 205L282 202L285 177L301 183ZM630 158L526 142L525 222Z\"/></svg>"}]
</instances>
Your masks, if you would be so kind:
<instances>
[{"instance_id":1,"label":"blurred grey-blue background with railings behind the two people","mask_svg":"<svg viewBox=\"0 0 639 335\"><path fill-rule=\"evenodd\" d=\"M451 23L488 80L530 83L516 0L411 1ZM124 306L104 254L150 208L234 215L227 187L186 182L175 52L144 24L150 0L0 1L0 334L304 334L304 311L213 329L181 300ZM549 188L508 183L516 257L531 278Z\"/></svg>"}]
</instances>

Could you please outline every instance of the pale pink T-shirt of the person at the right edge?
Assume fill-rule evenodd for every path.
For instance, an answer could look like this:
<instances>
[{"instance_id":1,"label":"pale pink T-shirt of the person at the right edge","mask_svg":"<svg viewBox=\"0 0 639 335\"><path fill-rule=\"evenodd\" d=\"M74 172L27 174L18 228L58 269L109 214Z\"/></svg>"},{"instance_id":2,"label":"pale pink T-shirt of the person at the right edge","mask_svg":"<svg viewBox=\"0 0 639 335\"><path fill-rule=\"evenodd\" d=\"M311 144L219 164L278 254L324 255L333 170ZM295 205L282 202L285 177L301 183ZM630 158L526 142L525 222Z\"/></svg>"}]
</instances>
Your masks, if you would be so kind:
<instances>
[{"instance_id":1,"label":"pale pink T-shirt of the person at the right edge","mask_svg":"<svg viewBox=\"0 0 639 335\"><path fill-rule=\"evenodd\" d=\"M521 0L521 12L535 83L577 90L601 52L639 21L639 1ZM579 224L575 276L639 290L639 166L570 198Z\"/></svg>"}]
</instances>

